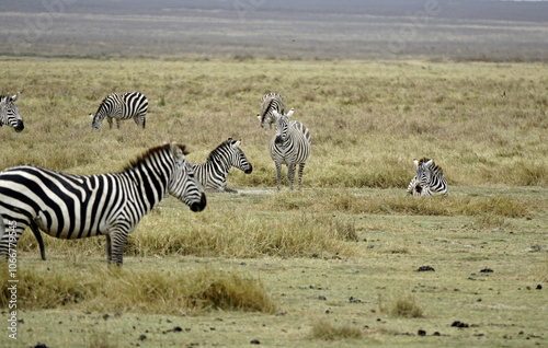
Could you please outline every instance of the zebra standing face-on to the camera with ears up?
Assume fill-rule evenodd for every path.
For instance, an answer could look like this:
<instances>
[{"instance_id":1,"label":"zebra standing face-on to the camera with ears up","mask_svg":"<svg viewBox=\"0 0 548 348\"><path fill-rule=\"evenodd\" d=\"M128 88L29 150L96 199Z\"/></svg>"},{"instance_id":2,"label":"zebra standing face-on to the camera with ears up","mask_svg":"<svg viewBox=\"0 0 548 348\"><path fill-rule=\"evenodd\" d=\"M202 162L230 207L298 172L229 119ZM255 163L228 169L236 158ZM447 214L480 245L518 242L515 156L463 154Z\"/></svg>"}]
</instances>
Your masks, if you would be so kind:
<instances>
[{"instance_id":1,"label":"zebra standing face-on to the camera with ears up","mask_svg":"<svg viewBox=\"0 0 548 348\"><path fill-rule=\"evenodd\" d=\"M302 185L302 171L310 155L310 132L308 128L296 120L289 121L294 111L293 108L287 115L273 112L276 124L276 135L272 138L270 152L271 158L276 165L277 189L279 190L279 182L282 178L282 164L287 165L287 179L289 188L293 189L295 181L295 167L299 165L299 188Z\"/></svg>"}]
</instances>

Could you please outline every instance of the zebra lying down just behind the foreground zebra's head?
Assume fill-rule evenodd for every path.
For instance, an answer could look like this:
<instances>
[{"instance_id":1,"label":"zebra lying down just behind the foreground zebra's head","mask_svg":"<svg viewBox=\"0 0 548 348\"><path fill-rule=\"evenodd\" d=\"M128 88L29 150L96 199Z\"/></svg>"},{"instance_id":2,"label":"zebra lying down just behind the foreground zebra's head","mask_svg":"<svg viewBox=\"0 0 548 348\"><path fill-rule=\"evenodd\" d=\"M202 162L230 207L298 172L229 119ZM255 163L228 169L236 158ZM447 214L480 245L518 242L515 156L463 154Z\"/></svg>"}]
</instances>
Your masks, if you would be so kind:
<instances>
[{"instance_id":1,"label":"zebra lying down just behind the foreground zebra's head","mask_svg":"<svg viewBox=\"0 0 548 348\"><path fill-rule=\"evenodd\" d=\"M251 174L253 171L253 166L240 149L240 140L228 138L209 153L205 163L192 164L196 179L202 186L206 189L238 193L236 189L227 187L228 171L232 166L246 174Z\"/></svg>"}]
</instances>

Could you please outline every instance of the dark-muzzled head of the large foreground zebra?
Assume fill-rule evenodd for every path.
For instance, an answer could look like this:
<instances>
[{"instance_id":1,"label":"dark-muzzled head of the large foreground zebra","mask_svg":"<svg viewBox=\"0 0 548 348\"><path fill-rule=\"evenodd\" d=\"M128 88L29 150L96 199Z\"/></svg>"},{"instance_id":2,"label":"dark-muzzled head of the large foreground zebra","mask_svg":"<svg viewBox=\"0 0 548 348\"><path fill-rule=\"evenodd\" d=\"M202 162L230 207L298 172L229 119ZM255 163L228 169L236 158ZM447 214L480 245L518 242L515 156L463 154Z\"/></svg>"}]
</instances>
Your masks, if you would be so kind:
<instances>
[{"instance_id":1,"label":"dark-muzzled head of the large foreground zebra","mask_svg":"<svg viewBox=\"0 0 548 348\"><path fill-rule=\"evenodd\" d=\"M186 204L192 211L202 211L206 207L204 187L194 177L194 170L184 156L184 146L174 142L170 146L175 160L174 172L169 183L169 193Z\"/></svg>"}]
</instances>

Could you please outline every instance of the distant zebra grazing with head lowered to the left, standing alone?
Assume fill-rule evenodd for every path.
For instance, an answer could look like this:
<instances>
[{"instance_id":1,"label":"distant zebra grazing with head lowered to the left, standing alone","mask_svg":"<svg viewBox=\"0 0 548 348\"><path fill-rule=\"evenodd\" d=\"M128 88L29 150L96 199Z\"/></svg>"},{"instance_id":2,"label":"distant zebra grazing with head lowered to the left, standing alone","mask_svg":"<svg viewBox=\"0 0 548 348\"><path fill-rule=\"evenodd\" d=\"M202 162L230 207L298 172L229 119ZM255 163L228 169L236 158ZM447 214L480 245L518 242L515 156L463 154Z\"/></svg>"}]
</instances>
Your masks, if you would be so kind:
<instances>
[{"instance_id":1,"label":"distant zebra grazing with head lowered to the left, standing alone","mask_svg":"<svg viewBox=\"0 0 548 348\"><path fill-rule=\"evenodd\" d=\"M148 100L139 92L111 93L99 105L95 116L90 114L93 119L91 128L101 129L104 118L109 121L109 128L112 128L112 119L116 119L116 127L119 129L121 119L133 118L137 126L145 129L146 116L148 111Z\"/></svg>"}]
</instances>

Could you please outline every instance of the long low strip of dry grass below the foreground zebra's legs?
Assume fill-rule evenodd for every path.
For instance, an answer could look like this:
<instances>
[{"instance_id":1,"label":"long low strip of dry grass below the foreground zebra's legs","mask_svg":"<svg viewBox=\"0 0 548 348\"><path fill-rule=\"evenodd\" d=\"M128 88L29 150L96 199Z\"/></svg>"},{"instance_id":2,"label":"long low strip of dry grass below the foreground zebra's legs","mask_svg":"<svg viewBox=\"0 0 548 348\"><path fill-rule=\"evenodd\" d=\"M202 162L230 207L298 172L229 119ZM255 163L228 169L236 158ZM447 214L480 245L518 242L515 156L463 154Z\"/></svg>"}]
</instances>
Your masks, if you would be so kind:
<instances>
[{"instance_id":1,"label":"long low strip of dry grass below the foreground zebra's legs","mask_svg":"<svg viewBox=\"0 0 548 348\"><path fill-rule=\"evenodd\" d=\"M99 312L196 314L203 310L274 313L261 281L235 271L202 267L189 274L117 267L18 272L18 305L26 310L79 309ZM8 272L1 274L7 283ZM0 304L10 293L2 289Z\"/></svg>"}]
</instances>

